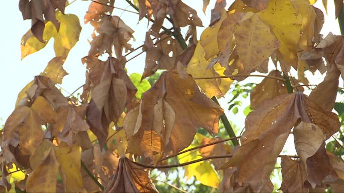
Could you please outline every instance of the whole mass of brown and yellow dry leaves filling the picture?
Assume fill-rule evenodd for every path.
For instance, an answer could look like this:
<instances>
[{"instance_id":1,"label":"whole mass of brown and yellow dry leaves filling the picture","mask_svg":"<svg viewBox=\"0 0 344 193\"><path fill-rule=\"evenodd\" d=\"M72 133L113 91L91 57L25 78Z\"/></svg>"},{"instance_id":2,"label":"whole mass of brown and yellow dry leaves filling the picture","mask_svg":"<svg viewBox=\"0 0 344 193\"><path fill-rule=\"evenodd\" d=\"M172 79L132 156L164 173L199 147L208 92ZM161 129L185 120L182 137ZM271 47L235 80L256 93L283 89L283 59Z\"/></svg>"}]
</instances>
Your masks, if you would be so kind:
<instances>
[{"instance_id":1,"label":"whole mass of brown and yellow dry leaves filling the picture","mask_svg":"<svg viewBox=\"0 0 344 193\"><path fill-rule=\"evenodd\" d=\"M202 21L182 0L134 1L139 20L153 21L143 45L142 79L165 70L141 99L125 70L124 53L134 50L128 43L134 31L112 15L114 2L93 1L84 16L94 33L81 60L86 82L75 98L63 96L55 85L67 75L62 65L78 41L79 19L64 14L65 0L20 0L23 19L32 21L22 38L22 58L51 38L56 57L19 93L2 130L2 191L14 185L26 192L95 192L103 186L105 192L157 192L148 168L168 168L165 158L177 155L182 164L204 158L205 164L187 165L185 175L200 180L211 170L206 176L215 180L221 173L220 183L200 180L219 192L271 192L278 157L283 192L325 192L329 186L343 191L344 162L326 151L325 141L340 128L331 111L338 79L344 77L344 39L319 34L324 15L312 6L315 1L236 0L225 10L226 1L217 0L200 40L196 28ZM203 2L205 12L210 1ZM343 2L335 2L338 16ZM164 28L164 21L173 29ZM182 27L189 28L185 37ZM107 61L99 59L104 54ZM269 72L269 60L282 72ZM326 76L309 96L301 87L288 92L291 68L298 75L290 77L294 86L309 84L306 70ZM216 135L224 113L211 98L224 96L233 80L255 71L269 74L250 95L253 112L246 117L241 145L230 148L221 139L201 137L198 128ZM214 78L220 76L225 78ZM280 156L291 132L297 158ZM195 139L198 145L192 144ZM181 156L192 148L196 154ZM205 160L209 156L213 159ZM13 180L17 168L23 176Z\"/></svg>"}]
</instances>

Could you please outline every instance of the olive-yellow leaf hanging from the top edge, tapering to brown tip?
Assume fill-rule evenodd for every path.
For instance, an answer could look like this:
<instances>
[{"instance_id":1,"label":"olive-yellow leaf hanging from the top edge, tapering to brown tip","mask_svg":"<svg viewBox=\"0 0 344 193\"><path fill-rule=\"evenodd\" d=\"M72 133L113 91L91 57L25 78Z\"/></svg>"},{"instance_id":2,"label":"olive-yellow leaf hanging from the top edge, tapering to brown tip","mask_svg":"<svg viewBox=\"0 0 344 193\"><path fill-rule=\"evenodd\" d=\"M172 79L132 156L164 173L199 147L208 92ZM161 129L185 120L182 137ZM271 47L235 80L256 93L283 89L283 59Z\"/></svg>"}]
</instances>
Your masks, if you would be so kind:
<instances>
[{"instance_id":1,"label":"olive-yellow leaf hanging from the top edge, tapering to brown tip","mask_svg":"<svg viewBox=\"0 0 344 193\"><path fill-rule=\"evenodd\" d=\"M300 40L301 14L290 0L271 0L268 8L257 14L262 21L271 26L273 33L280 41L279 51L284 61L297 68L296 52Z\"/></svg>"}]
</instances>

